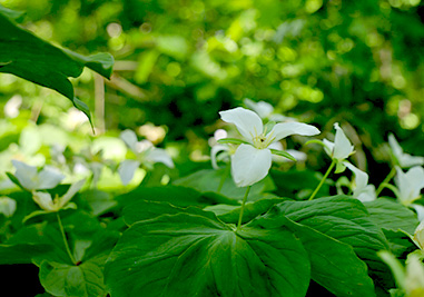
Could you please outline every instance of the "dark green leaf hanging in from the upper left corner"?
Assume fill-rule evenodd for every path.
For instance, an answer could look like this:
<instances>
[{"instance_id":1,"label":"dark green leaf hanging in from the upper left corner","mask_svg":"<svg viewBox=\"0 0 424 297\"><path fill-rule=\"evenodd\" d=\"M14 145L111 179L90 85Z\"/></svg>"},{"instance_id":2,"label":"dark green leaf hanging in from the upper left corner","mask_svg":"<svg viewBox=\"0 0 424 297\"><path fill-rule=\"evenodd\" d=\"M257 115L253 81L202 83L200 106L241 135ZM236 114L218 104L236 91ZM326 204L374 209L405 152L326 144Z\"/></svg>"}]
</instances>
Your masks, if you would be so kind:
<instances>
[{"instance_id":1,"label":"dark green leaf hanging in from the upper left corner","mask_svg":"<svg viewBox=\"0 0 424 297\"><path fill-rule=\"evenodd\" d=\"M53 89L70 99L90 119L86 103L77 99L69 77L79 77L88 67L110 78L114 58L109 53L89 57L59 49L18 27L10 13L0 10L0 72L11 73L37 85Z\"/></svg>"}]
</instances>

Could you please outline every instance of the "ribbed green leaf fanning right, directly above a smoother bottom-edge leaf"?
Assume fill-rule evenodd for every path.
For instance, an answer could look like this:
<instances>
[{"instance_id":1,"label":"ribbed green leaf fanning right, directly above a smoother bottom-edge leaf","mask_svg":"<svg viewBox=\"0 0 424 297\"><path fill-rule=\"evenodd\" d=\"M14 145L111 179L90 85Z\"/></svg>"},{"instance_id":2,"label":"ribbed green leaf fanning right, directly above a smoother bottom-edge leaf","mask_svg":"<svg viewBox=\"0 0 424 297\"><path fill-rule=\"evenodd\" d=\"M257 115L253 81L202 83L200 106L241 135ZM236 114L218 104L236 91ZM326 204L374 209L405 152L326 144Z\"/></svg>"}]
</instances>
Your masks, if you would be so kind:
<instances>
[{"instance_id":1,"label":"ribbed green leaf fanning right, directly above a smoother bottom-edge leaf","mask_svg":"<svg viewBox=\"0 0 424 297\"><path fill-rule=\"evenodd\" d=\"M372 268L383 269L376 253L388 248L387 240L359 200L341 195L310 201L284 201L267 216L280 215L351 245Z\"/></svg>"}]
</instances>

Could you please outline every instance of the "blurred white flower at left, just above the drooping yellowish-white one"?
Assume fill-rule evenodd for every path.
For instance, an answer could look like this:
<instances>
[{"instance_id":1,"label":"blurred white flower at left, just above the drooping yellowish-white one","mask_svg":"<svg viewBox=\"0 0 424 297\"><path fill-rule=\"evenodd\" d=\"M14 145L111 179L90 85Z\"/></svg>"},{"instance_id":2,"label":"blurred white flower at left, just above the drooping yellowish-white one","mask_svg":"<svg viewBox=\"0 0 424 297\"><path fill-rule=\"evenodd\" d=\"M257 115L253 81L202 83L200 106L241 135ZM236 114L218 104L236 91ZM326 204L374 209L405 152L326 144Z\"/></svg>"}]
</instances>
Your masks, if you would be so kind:
<instances>
[{"instance_id":1,"label":"blurred white flower at left, just above the drooping yellowish-white one","mask_svg":"<svg viewBox=\"0 0 424 297\"><path fill-rule=\"evenodd\" d=\"M37 167L18 160L12 160L12 164L17 168L14 177L29 191L52 189L65 178L62 174L51 167L45 167L41 171L38 171Z\"/></svg>"}]
</instances>

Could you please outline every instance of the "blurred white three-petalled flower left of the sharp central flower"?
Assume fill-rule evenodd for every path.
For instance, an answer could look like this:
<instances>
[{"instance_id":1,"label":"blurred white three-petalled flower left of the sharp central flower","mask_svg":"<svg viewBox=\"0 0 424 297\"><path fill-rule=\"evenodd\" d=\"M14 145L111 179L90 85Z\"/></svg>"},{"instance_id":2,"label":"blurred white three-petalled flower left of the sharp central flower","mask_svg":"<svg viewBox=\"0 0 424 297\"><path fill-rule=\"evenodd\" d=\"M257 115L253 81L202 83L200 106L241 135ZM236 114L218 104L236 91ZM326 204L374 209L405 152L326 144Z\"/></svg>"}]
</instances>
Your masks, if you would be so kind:
<instances>
[{"instance_id":1,"label":"blurred white three-petalled flower left of the sharp central flower","mask_svg":"<svg viewBox=\"0 0 424 297\"><path fill-rule=\"evenodd\" d=\"M118 174L124 185L128 185L135 171L140 165L150 168L156 162L161 162L169 168L174 168L174 161L165 149L156 148L149 140L138 141L137 135L132 130L125 130L120 138L130 150L137 156L137 160L124 160L118 167Z\"/></svg>"}]
</instances>

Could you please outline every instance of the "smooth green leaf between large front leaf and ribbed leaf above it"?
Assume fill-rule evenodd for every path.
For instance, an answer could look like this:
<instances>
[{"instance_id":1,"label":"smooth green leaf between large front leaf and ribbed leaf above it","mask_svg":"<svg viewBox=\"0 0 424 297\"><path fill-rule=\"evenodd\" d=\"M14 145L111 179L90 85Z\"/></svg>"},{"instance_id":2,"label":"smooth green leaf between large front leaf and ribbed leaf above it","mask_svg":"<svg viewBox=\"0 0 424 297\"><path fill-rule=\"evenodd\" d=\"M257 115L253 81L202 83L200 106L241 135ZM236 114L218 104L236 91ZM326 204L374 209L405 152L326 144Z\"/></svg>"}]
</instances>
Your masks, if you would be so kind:
<instances>
[{"instance_id":1,"label":"smooth green leaf between large front leaf and ribbed leaf above it","mask_svg":"<svg viewBox=\"0 0 424 297\"><path fill-rule=\"evenodd\" d=\"M375 296L368 269L352 246L305 225L284 220L309 255L312 279L335 296Z\"/></svg>"}]
</instances>

